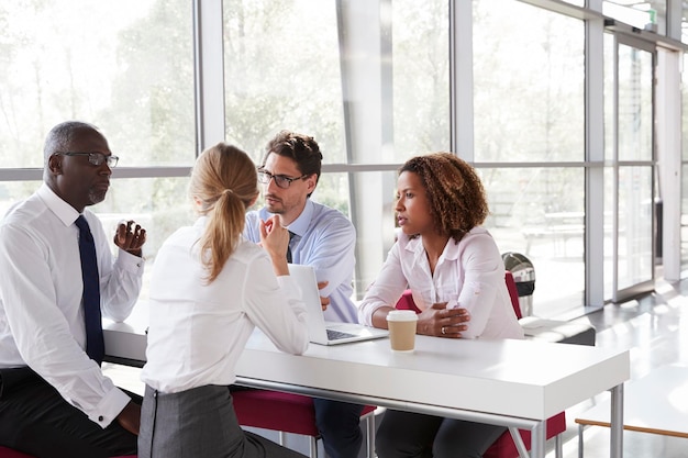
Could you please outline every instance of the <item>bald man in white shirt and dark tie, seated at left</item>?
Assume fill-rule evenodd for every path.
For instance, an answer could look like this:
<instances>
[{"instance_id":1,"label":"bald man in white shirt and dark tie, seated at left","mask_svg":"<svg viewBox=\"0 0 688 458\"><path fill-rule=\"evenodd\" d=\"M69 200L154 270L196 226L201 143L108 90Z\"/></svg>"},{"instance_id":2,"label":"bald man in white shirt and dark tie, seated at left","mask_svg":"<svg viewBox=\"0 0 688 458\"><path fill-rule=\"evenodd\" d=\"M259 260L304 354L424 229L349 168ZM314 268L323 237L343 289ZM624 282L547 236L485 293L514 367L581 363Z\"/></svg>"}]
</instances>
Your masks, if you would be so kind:
<instances>
[{"instance_id":1,"label":"bald man in white shirt and dark tie, seated at left","mask_svg":"<svg viewBox=\"0 0 688 458\"><path fill-rule=\"evenodd\" d=\"M96 126L58 124L45 142L44 183L0 224L0 445L51 458L136 453L140 399L133 402L100 369L99 315L123 321L131 313L146 234L121 223L113 258L110 236L86 210L104 200L116 160ZM86 264L93 268L82 272L84 219L81 238L92 238L96 253ZM96 269L96 305L87 311L82 275ZM93 313L97 320L85 324ZM93 338L97 356L87 348Z\"/></svg>"}]
</instances>

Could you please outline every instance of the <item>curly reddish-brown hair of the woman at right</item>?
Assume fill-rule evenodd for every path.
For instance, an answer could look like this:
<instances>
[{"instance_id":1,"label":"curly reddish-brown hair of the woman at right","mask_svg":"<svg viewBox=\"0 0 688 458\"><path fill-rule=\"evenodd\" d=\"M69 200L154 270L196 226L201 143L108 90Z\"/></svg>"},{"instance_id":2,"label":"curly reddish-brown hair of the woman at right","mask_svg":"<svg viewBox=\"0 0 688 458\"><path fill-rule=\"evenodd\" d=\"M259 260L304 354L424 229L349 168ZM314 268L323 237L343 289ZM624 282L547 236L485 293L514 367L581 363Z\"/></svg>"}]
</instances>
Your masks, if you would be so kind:
<instances>
[{"instance_id":1,"label":"curly reddish-brown hair of the woman at right","mask_svg":"<svg viewBox=\"0 0 688 458\"><path fill-rule=\"evenodd\" d=\"M452 153L432 153L407 160L399 169L418 174L436 230L460 241L489 214L487 196L475 169Z\"/></svg>"}]
</instances>

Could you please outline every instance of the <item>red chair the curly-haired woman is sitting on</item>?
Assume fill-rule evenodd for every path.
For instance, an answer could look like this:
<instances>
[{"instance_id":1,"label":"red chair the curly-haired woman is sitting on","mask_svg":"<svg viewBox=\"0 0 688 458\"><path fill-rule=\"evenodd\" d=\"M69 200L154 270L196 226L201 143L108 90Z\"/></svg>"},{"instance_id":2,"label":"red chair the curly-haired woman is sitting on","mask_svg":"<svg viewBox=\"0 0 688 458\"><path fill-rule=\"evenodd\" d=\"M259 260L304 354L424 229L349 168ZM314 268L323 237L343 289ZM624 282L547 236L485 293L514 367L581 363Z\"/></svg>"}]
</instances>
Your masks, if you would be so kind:
<instances>
[{"instance_id":1,"label":"red chair the curly-haired woman is sitting on","mask_svg":"<svg viewBox=\"0 0 688 458\"><path fill-rule=\"evenodd\" d=\"M520 320L522 317L521 308L519 305L519 292L517 290L515 281L513 280L513 276L509 270L506 271L504 281L507 283L507 289L509 290L509 297L511 298L511 305L513 305L513 311L515 312L517 317ZM404 291L401 294L401 299L396 304L397 309L401 310L413 310L415 313L420 313L420 310L415 306L413 302L413 297L411 295L411 290ZM554 437L555 440L555 455L556 458L562 458L564 456L564 449L562 446L562 436L561 434L566 431L566 414L565 412L561 412L550 418L547 418L547 423L545 426L546 434L545 437L551 439ZM531 432L528 429L519 429L522 446L526 451L531 449ZM510 432L503 433L499 438L487 449L482 458L519 458L522 454L519 453L519 447L521 444L517 445L511 436ZM525 455L525 454L523 454Z\"/></svg>"}]
</instances>

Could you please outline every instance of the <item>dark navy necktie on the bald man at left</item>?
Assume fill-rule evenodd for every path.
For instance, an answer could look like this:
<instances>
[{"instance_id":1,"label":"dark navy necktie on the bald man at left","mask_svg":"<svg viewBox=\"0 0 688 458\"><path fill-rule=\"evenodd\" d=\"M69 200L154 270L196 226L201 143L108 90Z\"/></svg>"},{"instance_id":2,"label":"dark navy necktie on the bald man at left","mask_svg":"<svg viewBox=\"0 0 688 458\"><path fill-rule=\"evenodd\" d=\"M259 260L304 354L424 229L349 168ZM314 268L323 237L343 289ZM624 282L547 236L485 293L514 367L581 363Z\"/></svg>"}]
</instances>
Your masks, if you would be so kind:
<instances>
[{"instance_id":1,"label":"dark navy necktie on the bald man at left","mask_svg":"<svg viewBox=\"0 0 688 458\"><path fill-rule=\"evenodd\" d=\"M91 230L84 215L76 221L79 227L79 255L81 256L81 278L84 280L84 321L86 324L86 354L98 365L106 355L100 315L100 276L96 259L96 244Z\"/></svg>"}]
</instances>

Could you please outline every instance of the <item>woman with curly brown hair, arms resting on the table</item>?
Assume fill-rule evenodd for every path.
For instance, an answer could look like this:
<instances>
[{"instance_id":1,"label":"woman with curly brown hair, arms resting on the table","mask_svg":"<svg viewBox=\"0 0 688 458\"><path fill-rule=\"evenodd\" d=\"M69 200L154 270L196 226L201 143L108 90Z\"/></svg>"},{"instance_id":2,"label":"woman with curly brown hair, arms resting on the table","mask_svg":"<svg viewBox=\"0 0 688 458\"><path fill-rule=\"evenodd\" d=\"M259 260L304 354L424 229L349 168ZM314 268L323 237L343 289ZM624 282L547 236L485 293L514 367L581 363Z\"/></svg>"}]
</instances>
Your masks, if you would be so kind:
<instances>
[{"instance_id":1,"label":"woman with curly brown hair, arms resting on the table","mask_svg":"<svg viewBox=\"0 0 688 458\"><path fill-rule=\"evenodd\" d=\"M360 322L386 328L387 314L411 289L421 311L418 334L523 338L499 249L480 226L489 209L474 168L450 153L409 159L399 170L395 210L401 232L360 303ZM480 457L504 431L388 410L376 449L380 458Z\"/></svg>"}]
</instances>

